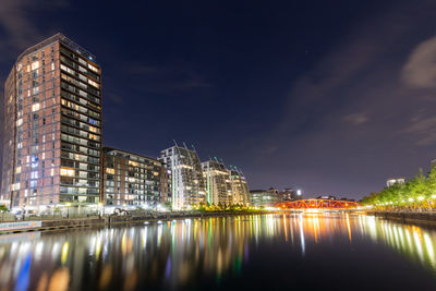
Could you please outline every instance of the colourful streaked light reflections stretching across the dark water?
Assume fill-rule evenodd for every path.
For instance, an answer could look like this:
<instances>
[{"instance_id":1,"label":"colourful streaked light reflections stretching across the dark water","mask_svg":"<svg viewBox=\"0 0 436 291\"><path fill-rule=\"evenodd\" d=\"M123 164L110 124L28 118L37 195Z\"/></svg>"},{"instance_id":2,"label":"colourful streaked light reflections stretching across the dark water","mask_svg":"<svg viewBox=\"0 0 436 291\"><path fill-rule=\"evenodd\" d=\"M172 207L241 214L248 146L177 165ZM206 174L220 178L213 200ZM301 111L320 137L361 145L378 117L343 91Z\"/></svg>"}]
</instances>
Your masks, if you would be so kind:
<instances>
[{"instance_id":1,"label":"colourful streaked light reflections stretching across the dark water","mask_svg":"<svg viewBox=\"0 0 436 291\"><path fill-rule=\"evenodd\" d=\"M134 290L216 286L254 251L375 243L436 270L436 232L363 215L264 215L185 219L111 229L0 237L0 288ZM267 262L265 262L267 263Z\"/></svg>"}]
</instances>

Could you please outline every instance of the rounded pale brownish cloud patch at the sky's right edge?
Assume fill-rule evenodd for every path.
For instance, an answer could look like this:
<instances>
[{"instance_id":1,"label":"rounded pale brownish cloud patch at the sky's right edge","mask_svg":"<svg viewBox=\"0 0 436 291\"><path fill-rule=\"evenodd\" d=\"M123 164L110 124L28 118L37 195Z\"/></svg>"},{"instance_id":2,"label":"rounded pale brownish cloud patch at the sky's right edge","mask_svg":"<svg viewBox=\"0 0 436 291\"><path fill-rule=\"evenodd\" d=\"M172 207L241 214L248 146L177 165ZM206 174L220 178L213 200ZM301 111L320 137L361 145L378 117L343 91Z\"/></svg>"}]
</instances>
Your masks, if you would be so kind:
<instances>
[{"instance_id":1,"label":"rounded pale brownish cloud patch at the sky's right edge","mask_svg":"<svg viewBox=\"0 0 436 291\"><path fill-rule=\"evenodd\" d=\"M436 88L436 37L419 44L402 70L402 80L413 88Z\"/></svg>"}]
</instances>

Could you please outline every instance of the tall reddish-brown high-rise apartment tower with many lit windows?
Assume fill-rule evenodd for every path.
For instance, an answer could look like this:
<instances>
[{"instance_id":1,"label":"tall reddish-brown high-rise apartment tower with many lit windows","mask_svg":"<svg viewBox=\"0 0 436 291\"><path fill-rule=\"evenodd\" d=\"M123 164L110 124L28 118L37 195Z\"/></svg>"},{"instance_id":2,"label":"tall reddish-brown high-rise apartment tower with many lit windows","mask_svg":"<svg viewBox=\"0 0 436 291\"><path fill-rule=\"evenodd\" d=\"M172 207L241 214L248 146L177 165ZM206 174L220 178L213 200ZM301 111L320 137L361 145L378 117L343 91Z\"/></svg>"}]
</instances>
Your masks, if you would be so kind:
<instances>
[{"instance_id":1,"label":"tall reddish-brown high-rise apartment tower with many lit windows","mask_svg":"<svg viewBox=\"0 0 436 291\"><path fill-rule=\"evenodd\" d=\"M96 204L101 194L101 69L57 34L17 58L4 84L0 199L12 207Z\"/></svg>"}]
</instances>

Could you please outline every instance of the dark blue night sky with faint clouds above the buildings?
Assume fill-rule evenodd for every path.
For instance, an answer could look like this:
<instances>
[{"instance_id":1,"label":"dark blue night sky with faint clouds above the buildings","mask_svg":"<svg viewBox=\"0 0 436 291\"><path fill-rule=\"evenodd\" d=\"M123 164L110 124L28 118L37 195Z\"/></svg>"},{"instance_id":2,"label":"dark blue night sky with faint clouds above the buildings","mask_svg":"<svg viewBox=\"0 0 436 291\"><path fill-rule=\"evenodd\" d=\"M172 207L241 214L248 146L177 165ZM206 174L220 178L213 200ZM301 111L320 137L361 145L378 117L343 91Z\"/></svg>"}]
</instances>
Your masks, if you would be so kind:
<instances>
[{"instance_id":1,"label":"dark blue night sky with faint clouds above the buildings","mask_svg":"<svg viewBox=\"0 0 436 291\"><path fill-rule=\"evenodd\" d=\"M0 0L1 93L60 32L102 68L108 146L355 198L436 158L436 1L137 2Z\"/></svg>"}]
</instances>

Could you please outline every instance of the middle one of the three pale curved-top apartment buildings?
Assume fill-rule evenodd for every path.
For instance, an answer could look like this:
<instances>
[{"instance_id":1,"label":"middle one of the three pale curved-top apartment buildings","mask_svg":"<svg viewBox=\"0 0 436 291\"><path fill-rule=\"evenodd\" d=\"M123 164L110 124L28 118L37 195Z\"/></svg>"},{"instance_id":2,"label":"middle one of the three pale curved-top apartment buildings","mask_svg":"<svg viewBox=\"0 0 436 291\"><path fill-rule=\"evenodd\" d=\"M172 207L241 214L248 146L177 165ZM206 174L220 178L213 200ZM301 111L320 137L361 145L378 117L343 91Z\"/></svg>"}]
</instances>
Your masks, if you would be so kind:
<instances>
[{"instance_id":1,"label":"middle one of the three pale curved-top apartment buildings","mask_svg":"<svg viewBox=\"0 0 436 291\"><path fill-rule=\"evenodd\" d=\"M210 205L233 204L229 171L223 162L207 160L202 162L203 177L206 182L206 201Z\"/></svg>"}]
</instances>

